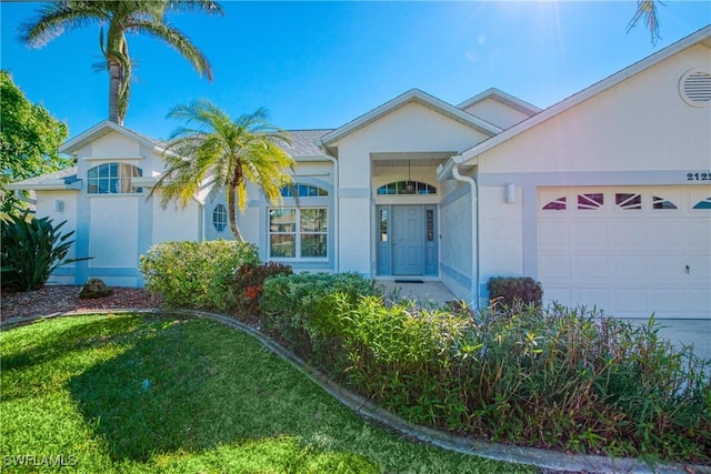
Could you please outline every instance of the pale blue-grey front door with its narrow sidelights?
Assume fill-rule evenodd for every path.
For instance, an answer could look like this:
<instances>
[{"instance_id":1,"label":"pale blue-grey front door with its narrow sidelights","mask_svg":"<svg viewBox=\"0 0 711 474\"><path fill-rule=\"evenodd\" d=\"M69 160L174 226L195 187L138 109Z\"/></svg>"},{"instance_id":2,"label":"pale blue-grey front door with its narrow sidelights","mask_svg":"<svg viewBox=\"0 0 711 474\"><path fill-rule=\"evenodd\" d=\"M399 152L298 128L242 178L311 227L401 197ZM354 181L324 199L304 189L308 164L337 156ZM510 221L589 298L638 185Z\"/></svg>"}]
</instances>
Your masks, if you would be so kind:
<instances>
[{"instance_id":1,"label":"pale blue-grey front door with its narrow sidelights","mask_svg":"<svg viewBox=\"0 0 711 474\"><path fill-rule=\"evenodd\" d=\"M379 275L437 274L437 208L425 204L378 206Z\"/></svg>"}]
</instances>

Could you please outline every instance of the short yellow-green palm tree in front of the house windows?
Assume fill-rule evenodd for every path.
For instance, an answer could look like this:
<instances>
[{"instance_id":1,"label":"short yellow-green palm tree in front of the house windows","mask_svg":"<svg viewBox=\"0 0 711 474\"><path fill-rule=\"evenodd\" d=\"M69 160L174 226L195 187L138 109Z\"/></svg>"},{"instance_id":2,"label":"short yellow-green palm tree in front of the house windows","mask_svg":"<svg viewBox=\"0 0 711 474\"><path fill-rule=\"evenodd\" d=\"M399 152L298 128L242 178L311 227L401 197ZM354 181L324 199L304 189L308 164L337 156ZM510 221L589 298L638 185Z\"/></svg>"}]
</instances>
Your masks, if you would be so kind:
<instances>
[{"instance_id":1,"label":"short yellow-green palm tree in front of the house windows","mask_svg":"<svg viewBox=\"0 0 711 474\"><path fill-rule=\"evenodd\" d=\"M211 186L211 193L224 190L230 230L243 241L237 209L247 206L247 183L256 184L270 202L282 202L281 189L291 184L287 169L293 170L296 163L280 145L289 145L291 138L269 123L264 109L232 121L206 99L177 105L167 117L186 125L170 135L163 153L166 172L151 195L160 189L163 208L171 201L184 208L204 186Z\"/></svg>"}]
</instances>

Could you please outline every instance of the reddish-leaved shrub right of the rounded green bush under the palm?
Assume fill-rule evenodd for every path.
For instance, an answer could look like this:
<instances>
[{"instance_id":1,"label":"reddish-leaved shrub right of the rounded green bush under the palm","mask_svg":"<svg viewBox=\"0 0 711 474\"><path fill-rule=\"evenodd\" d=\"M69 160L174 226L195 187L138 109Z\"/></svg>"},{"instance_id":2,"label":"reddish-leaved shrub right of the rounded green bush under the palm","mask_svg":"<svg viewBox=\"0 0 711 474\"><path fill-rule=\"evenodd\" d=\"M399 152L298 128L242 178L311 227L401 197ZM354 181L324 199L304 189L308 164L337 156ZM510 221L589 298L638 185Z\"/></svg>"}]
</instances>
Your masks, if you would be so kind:
<instances>
[{"instance_id":1,"label":"reddish-leaved shrub right of the rounded green bush under the palm","mask_svg":"<svg viewBox=\"0 0 711 474\"><path fill-rule=\"evenodd\" d=\"M291 275L293 271L291 266L280 262L241 265L229 285L230 305L243 317L251 320L259 316L261 312L259 300L264 292L264 280L279 274Z\"/></svg>"}]
</instances>

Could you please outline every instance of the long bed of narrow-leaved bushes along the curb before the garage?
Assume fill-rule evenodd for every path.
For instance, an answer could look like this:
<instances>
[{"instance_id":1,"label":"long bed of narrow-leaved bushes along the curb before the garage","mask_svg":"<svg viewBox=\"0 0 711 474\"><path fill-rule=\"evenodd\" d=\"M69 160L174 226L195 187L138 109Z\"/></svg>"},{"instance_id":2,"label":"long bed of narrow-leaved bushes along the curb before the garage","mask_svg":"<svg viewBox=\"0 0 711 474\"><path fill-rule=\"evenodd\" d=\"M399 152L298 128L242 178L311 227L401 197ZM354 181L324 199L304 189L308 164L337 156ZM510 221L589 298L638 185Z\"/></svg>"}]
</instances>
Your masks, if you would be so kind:
<instances>
[{"instance_id":1,"label":"long bed of narrow-leaved bushes along the curb before the garage","mask_svg":"<svg viewBox=\"0 0 711 474\"><path fill-rule=\"evenodd\" d=\"M448 312L339 292L310 295L304 310L288 301L300 288L274 283L279 304L300 314L281 323L310 336L313 352L297 347L300 355L413 423L519 445L711 462L711 361L659 337L653 319L637 327L558 305Z\"/></svg>"}]
</instances>

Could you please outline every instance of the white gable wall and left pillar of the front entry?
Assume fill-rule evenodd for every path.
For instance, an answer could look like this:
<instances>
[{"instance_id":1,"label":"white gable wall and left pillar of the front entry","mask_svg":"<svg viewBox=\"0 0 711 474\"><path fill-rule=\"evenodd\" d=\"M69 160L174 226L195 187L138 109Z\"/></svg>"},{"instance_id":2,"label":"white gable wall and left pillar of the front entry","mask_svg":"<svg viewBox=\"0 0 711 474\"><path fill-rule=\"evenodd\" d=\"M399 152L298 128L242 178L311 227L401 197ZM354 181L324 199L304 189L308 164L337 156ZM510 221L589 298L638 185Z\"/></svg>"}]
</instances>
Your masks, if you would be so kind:
<instances>
[{"instance_id":1,"label":"white gable wall and left pillar of the front entry","mask_svg":"<svg viewBox=\"0 0 711 474\"><path fill-rule=\"evenodd\" d=\"M458 152L481 142L485 135L427 107L408 103L378 121L341 139L339 148L340 269L374 273L372 231L371 153ZM407 167L407 158L403 159ZM413 170L418 168L414 167ZM433 170L432 170L433 171ZM428 170L417 170L427 173ZM392 172L394 174L394 171ZM402 178L400 169L400 178ZM415 179L415 174L412 175ZM381 183L384 177L377 177ZM421 181L434 183L434 173ZM364 238L368 236L368 238Z\"/></svg>"}]
</instances>

